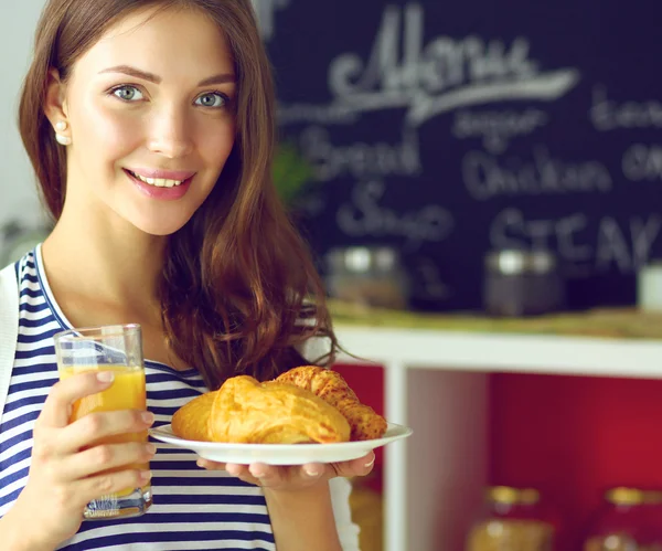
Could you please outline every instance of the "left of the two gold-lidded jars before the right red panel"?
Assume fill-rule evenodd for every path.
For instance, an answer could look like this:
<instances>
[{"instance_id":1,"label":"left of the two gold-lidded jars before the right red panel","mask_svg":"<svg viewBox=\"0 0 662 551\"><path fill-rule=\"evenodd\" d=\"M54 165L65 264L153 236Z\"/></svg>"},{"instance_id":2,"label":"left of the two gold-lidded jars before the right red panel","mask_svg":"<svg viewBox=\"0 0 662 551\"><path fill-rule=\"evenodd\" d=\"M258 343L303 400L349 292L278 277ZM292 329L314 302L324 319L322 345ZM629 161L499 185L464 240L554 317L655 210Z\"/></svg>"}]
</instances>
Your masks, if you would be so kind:
<instances>
[{"instance_id":1,"label":"left of the two gold-lidded jars before the right red panel","mask_svg":"<svg viewBox=\"0 0 662 551\"><path fill-rule=\"evenodd\" d=\"M494 486L467 537L466 551L553 551L557 521L533 488Z\"/></svg>"}]
</instances>

